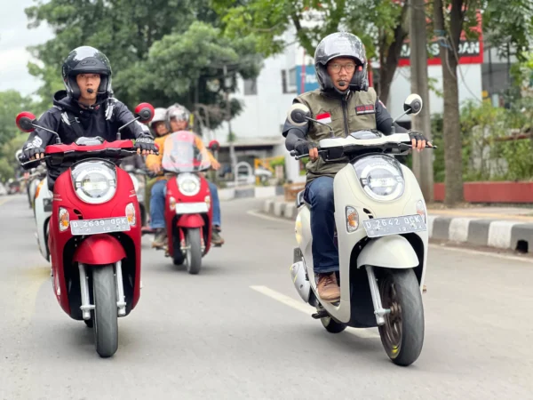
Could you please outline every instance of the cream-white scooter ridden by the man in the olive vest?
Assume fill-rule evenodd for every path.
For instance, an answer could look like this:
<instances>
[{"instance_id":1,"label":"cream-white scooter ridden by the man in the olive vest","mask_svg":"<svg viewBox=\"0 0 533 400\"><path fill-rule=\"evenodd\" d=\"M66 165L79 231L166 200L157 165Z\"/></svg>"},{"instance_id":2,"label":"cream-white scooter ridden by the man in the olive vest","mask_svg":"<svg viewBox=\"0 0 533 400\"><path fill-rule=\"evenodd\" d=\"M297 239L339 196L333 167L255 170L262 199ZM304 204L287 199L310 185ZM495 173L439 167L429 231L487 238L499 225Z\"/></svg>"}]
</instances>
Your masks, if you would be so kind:
<instances>
[{"instance_id":1,"label":"cream-white scooter ridden by the man in the olive vest","mask_svg":"<svg viewBox=\"0 0 533 400\"><path fill-rule=\"evenodd\" d=\"M402 116L417 115L422 99L411 94L403 108ZM309 121L322 124L302 104L290 108L289 120L299 126ZM428 249L424 196L414 174L394 159L410 151L410 136L364 130L320 140L319 146L326 162L345 157L347 163L333 183L340 300L321 302L318 296L311 212L303 191L297 197L292 281L301 298L317 309L313 317L321 319L328 332L378 326L394 364L410 365L424 342L421 292ZM308 155L296 158L304 156Z\"/></svg>"}]
</instances>

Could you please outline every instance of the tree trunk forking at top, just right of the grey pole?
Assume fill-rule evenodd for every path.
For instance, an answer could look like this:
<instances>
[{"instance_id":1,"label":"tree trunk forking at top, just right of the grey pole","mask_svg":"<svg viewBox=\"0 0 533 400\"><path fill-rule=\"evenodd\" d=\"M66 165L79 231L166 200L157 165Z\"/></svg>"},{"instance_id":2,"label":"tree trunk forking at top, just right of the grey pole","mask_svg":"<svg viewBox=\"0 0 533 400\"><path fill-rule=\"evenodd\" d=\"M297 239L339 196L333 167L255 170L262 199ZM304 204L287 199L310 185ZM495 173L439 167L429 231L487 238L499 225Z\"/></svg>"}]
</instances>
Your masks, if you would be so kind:
<instances>
[{"instance_id":1,"label":"tree trunk forking at top, just right of the grey pole","mask_svg":"<svg viewBox=\"0 0 533 400\"><path fill-rule=\"evenodd\" d=\"M446 178L444 203L454 205L463 201L463 152L459 124L459 96L457 87L457 48L463 28L463 1L452 0L449 30L445 28L442 0L434 0L434 27L438 36L448 40L441 43L442 85L444 94L443 140ZM455 49L455 51L454 51Z\"/></svg>"}]
</instances>

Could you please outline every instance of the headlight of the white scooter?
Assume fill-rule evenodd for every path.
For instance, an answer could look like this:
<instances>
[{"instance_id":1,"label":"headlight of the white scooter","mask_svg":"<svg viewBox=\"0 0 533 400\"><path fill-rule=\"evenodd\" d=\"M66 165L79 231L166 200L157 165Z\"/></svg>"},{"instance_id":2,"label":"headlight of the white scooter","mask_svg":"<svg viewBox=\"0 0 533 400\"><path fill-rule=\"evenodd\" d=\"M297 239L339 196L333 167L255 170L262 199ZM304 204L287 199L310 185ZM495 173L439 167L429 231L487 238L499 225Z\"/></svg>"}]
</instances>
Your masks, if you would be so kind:
<instances>
[{"instance_id":1,"label":"headlight of the white scooter","mask_svg":"<svg viewBox=\"0 0 533 400\"><path fill-rule=\"evenodd\" d=\"M367 156L354 164L364 192L378 201L393 201L405 190L402 167L393 157Z\"/></svg>"}]
</instances>

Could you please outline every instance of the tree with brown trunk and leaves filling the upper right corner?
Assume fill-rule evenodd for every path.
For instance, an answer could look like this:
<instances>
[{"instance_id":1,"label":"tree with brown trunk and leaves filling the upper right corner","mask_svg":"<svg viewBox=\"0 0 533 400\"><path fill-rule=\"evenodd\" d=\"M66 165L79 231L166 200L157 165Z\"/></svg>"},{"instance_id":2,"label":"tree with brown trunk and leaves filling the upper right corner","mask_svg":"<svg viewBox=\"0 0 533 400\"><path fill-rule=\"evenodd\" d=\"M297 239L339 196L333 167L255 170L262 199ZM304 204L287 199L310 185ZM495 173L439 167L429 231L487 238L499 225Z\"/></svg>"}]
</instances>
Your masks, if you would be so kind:
<instances>
[{"instance_id":1,"label":"tree with brown trunk and leaves filling the upper right corner","mask_svg":"<svg viewBox=\"0 0 533 400\"><path fill-rule=\"evenodd\" d=\"M434 32L441 44L442 83L444 96L443 137L448 205L463 201L463 139L459 123L458 46L461 34L477 36L472 28L478 24L478 11L484 9L483 27L494 44L515 45L516 55L524 52L533 29L530 0L434 0ZM522 12L523 15L517 15ZM521 23L516 26L517 22ZM528 33L529 32L529 33ZM521 57L521 56L520 56Z\"/></svg>"}]
</instances>

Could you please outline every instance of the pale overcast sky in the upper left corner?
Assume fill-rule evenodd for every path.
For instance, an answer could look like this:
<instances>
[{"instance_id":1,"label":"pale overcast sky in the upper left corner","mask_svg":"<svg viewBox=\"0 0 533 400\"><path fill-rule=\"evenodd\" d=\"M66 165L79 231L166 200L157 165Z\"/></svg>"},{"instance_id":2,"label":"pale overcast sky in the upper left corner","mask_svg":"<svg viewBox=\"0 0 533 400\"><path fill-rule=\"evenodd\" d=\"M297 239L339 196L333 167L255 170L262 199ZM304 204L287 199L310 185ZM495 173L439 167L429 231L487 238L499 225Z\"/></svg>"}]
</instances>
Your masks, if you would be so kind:
<instances>
[{"instance_id":1,"label":"pale overcast sky in the upper left corner","mask_svg":"<svg viewBox=\"0 0 533 400\"><path fill-rule=\"evenodd\" d=\"M26 48L51 39L52 30L44 24L36 29L27 28L24 9L35 4L34 0L0 0L0 3L3 8L0 13L0 91L15 89L31 94L40 82L28 74L27 64L31 56Z\"/></svg>"}]
</instances>

